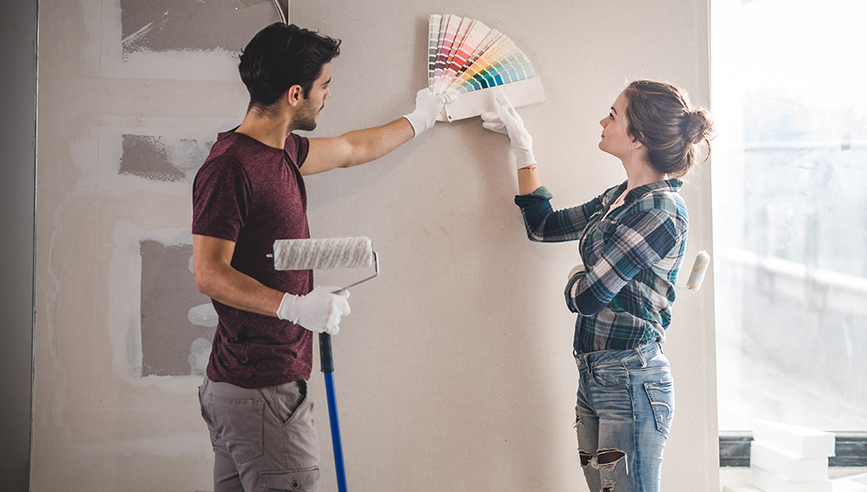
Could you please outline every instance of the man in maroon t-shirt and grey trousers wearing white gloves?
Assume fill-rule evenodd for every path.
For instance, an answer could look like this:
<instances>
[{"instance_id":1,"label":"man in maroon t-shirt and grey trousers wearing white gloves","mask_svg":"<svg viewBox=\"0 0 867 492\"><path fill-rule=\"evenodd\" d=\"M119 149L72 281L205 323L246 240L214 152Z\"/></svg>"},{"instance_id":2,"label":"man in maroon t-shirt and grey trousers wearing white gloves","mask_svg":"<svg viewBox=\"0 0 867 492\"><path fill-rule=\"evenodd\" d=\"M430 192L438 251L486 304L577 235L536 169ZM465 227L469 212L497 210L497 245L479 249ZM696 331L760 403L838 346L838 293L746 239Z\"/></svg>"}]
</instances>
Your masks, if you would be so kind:
<instances>
[{"instance_id":1,"label":"man in maroon t-shirt and grey trousers wearing white gloves","mask_svg":"<svg viewBox=\"0 0 867 492\"><path fill-rule=\"evenodd\" d=\"M348 294L311 271L274 270L276 239L308 238L303 176L378 159L430 128L446 102L424 89L413 113L336 138L307 139L331 95L340 42L294 25L260 31L241 55L250 105L218 135L193 184L196 285L219 316L199 388L214 489L317 490L319 448L306 398L313 333L334 334ZM345 296L345 297L344 297Z\"/></svg>"}]
</instances>

